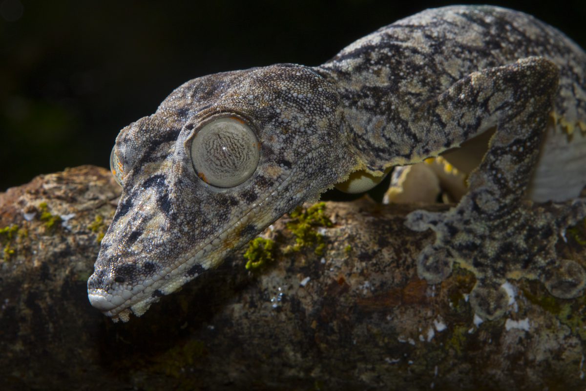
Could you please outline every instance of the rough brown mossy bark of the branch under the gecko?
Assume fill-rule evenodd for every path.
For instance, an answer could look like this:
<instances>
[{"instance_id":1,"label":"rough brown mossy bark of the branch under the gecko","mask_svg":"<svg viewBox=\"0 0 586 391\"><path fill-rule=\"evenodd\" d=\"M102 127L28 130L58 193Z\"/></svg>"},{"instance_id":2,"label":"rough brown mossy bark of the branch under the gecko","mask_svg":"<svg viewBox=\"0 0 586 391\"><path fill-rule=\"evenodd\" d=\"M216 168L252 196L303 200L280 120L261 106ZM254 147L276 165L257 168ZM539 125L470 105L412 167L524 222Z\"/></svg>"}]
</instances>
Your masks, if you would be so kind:
<instances>
[{"instance_id":1,"label":"rough brown mossy bark of the branch under the gecko","mask_svg":"<svg viewBox=\"0 0 586 391\"><path fill-rule=\"evenodd\" d=\"M471 273L417 277L433 234L404 227L413 208L364 199L326 203L333 226L313 228L322 256L287 250L285 216L265 233L276 244L268 267L248 272L239 251L114 324L90 306L86 280L118 195L94 166L0 194L2 389L586 389L584 296L511 281L510 311L479 324ZM584 262L578 242L558 251Z\"/></svg>"}]
</instances>

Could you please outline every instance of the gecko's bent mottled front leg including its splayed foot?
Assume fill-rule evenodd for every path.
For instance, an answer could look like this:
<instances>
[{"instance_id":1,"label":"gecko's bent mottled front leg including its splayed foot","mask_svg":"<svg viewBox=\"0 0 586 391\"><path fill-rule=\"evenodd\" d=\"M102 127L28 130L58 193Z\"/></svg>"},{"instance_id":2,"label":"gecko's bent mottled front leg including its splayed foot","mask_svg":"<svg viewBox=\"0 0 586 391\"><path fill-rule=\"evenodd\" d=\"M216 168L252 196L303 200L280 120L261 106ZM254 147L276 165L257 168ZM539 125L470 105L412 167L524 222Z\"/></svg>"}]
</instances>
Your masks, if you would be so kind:
<instances>
[{"instance_id":1,"label":"gecko's bent mottled front leg including its splayed foot","mask_svg":"<svg viewBox=\"0 0 586 391\"><path fill-rule=\"evenodd\" d=\"M576 297L586 284L584 268L557 258L555 245L565 229L586 216L584 199L536 205L524 199L548 113L557 92L558 70L539 57L496 67L459 81L425 107L427 118L456 126L497 126L481 165L469 178L470 191L448 212L417 210L410 229L435 231L435 243L421 251L418 274L439 283L452 264L472 270L476 314L500 317L508 297L506 278L538 278L551 294ZM435 114L435 115L434 115ZM485 118L490 118L486 123ZM561 266L561 267L560 267Z\"/></svg>"}]
</instances>

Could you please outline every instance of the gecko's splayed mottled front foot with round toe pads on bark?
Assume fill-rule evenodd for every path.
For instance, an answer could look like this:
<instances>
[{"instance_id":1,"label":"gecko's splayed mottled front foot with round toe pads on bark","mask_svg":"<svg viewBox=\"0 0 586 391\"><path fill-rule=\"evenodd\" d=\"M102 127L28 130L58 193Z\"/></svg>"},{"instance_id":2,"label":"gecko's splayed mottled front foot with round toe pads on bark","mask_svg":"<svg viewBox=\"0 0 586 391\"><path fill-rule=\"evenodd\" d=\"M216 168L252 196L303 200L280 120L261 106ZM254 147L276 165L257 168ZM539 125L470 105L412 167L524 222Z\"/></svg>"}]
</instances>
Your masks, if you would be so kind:
<instances>
[{"instance_id":1,"label":"gecko's splayed mottled front foot with round toe pads on bark","mask_svg":"<svg viewBox=\"0 0 586 391\"><path fill-rule=\"evenodd\" d=\"M432 229L436 234L435 242L418 256L418 275L437 284L451 274L454 261L471 270L478 283L470 302L485 319L505 313L508 298L500 285L507 278L540 280L558 298L582 294L584 265L580 260L558 257L556 243L565 239L568 227L586 217L586 199L543 204L525 200L507 210L487 215L469 197L448 212L411 212L407 227Z\"/></svg>"}]
</instances>

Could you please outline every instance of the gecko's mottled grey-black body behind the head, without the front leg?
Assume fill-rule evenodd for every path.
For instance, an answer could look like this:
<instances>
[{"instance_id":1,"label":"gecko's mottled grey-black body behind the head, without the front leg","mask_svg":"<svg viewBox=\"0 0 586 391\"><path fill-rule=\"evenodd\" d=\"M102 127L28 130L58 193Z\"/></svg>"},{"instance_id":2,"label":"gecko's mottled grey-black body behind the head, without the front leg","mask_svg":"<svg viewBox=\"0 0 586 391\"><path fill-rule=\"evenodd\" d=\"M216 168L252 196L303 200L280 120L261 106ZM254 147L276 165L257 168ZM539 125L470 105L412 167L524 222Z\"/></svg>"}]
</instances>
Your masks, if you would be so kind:
<instances>
[{"instance_id":1,"label":"gecko's mottled grey-black body behind the head, without the front leg","mask_svg":"<svg viewBox=\"0 0 586 391\"><path fill-rule=\"evenodd\" d=\"M533 16L493 6L428 9L357 40L316 70L340 93L356 154L381 172L445 151L442 129L410 127L421 104L472 72L532 56L556 64L560 87L530 198L570 199L586 183L586 54ZM464 156L472 166L481 158Z\"/></svg>"}]
</instances>

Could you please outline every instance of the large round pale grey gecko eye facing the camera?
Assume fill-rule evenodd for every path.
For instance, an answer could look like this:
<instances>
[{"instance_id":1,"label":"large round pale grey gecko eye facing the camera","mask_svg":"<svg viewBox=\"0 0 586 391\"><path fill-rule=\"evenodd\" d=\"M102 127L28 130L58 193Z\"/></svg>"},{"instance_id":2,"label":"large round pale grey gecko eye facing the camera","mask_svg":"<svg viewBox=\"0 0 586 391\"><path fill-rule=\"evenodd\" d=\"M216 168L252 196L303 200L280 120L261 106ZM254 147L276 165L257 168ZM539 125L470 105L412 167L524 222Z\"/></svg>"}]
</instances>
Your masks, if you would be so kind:
<instances>
[{"instance_id":1,"label":"large round pale grey gecko eye facing the camera","mask_svg":"<svg viewBox=\"0 0 586 391\"><path fill-rule=\"evenodd\" d=\"M219 188L246 181L258 165L258 140L240 118L219 118L204 125L191 144L197 175Z\"/></svg>"}]
</instances>

